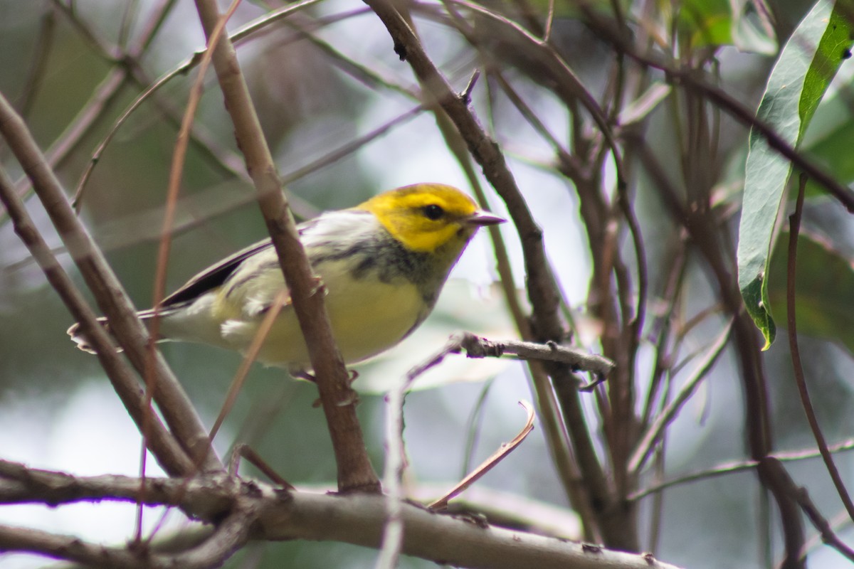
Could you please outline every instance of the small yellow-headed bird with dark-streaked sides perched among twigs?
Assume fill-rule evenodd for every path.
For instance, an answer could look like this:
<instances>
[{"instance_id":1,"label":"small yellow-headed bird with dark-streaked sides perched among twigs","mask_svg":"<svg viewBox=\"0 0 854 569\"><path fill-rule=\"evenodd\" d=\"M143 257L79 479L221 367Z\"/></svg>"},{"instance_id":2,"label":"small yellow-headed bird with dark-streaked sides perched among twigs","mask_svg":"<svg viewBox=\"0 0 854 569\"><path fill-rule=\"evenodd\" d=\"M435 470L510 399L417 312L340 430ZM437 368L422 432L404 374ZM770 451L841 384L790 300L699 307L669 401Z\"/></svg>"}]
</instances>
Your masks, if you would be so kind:
<instances>
[{"instance_id":1,"label":"small yellow-headed bird with dark-streaked sides perched among twigs","mask_svg":"<svg viewBox=\"0 0 854 569\"><path fill-rule=\"evenodd\" d=\"M504 221L479 210L459 189L418 183L298 225L308 260L324 285L344 362L376 356L418 328L477 228ZM246 351L284 287L272 242L260 241L202 270L164 299L157 340ZM154 310L138 316L150 322ZM100 322L106 325L105 319ZM68 335L81 350L92 352L79 324L68 328ZM296 375L310 369L305 340L287 302L258 360Z\"/></svg>"}]
</instances>

